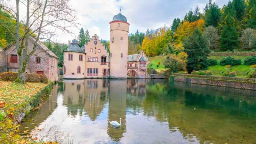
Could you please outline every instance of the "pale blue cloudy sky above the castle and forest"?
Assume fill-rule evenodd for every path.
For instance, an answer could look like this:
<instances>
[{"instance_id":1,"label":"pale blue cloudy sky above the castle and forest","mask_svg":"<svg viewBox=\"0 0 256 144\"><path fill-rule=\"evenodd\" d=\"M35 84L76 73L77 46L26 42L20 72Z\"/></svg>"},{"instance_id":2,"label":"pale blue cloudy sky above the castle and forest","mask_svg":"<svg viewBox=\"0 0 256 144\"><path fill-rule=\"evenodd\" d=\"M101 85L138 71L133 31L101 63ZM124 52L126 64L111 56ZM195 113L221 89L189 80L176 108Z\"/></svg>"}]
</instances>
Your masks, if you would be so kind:
<instances>
[{"instance_id":1,"label":"pale blue cloudy sky above the castle and forest","mask_svg":"<svg viewBox=\"0 0 256 144\"><path fill-rule=\"evenodd\" d=\"M68 43L79 35L80 28L88 29L90 36L97 34L101 39L110 39L109 22L113 16L121 13L130 23L129 33L146 32L164 25L170 26L174 18L184 18L186 13L196 5L203 11L209 0L71 0L70 3L77 11L77 20L80 25L72 28L74 34L65 34L57 31L53 39L60 43ZM219 7L228 3L228 0L213 0Z\"/></svg>"}]
</instances>

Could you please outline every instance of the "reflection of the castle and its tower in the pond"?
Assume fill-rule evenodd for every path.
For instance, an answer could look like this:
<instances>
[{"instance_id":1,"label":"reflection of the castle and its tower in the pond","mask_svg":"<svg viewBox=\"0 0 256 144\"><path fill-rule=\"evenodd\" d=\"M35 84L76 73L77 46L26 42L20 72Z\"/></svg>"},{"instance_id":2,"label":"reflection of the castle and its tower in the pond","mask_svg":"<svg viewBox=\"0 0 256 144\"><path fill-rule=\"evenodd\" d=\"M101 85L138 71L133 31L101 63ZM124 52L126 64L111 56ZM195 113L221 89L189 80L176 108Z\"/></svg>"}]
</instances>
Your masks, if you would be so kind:
<instances>
[{"instance_id":1,"label":"reflection of the castle and its tower in the pond","mask_svg":"<svg viewBox=\"0 0 256 144\"><path fill-rule=\"evenodd\" d=\"M107 130L113 140L119 140L126 132L126 98L145 97L147 83L148 79L64 79L63 105L67 107L69 116L85 114L92 121L95 121L103 109L108 107L108 121L118 121L122 118L124 124L122 127L115 129L108 123Z\"/></svg>"}]
</instances>

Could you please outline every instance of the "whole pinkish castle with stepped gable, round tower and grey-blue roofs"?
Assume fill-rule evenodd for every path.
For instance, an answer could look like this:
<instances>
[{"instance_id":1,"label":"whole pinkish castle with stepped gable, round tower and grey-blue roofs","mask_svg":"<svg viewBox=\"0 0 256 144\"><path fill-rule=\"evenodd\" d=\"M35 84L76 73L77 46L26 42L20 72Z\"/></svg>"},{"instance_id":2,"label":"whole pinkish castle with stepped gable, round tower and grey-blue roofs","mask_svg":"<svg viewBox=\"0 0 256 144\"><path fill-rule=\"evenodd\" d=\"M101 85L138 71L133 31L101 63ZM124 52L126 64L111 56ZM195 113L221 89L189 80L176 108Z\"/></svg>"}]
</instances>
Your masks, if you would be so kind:
<instances>
[{"instance_id":1,"label":"whole pinkish castle with stepped gable, round tower and grey-blue roofs","mask_svg":"<svg viewBox=\"0 0 256 144\"><path fill-rule=\"evenodd\" d=\"M130 24L120 13L110 24L110 52L100 42L97 35L92 36L84 47L78 46L76 38L69 41L64 52L64 79L147 78L147 57L140 54L128 55L128 34Z\"/></svg>"}]
</instances>

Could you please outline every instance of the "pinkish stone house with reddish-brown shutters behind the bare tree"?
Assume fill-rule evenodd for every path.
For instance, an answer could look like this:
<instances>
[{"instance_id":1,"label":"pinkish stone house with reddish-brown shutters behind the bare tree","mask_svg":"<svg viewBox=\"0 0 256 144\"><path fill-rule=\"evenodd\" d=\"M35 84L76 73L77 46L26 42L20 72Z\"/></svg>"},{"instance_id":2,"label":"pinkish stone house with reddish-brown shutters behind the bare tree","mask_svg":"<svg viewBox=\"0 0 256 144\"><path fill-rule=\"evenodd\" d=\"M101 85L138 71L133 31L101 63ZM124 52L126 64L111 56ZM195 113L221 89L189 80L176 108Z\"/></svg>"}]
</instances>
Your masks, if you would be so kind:
<instances>
[{"instance_id":1,"label":"pinkish stone house with reddish-brown shutters behind the bare tree","mask_svg":"<svg viewBox=\"0 0 256 144\"><path fill-rule=\"evenodd\" d=\"M31 52L35 43L34 37L28 39L28 52ZM37 42L36 51L29 58L26 73L41 74L48 77L50 81L58 81L58 57L44 44ZM15 43L12 43L0 51L0 69L7 71L18 71L19 55ZM6 71L5 70L5 71Z\"/></svg>"}]
</instances>

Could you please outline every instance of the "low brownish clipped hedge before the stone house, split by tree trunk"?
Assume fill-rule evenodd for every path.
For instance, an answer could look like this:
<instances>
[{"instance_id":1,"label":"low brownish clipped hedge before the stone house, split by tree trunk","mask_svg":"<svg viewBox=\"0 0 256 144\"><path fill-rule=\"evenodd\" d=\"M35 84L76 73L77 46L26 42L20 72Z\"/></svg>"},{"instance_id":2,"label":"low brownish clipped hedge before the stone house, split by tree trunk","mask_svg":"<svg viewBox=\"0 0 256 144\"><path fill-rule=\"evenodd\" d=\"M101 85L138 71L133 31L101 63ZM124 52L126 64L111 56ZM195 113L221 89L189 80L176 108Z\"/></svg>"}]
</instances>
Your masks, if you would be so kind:
<instances>
[{"instance_id":1,"label":"low brownish clipped hedge before the stone house, split by tree trunk","mask_svg":"<svg viewBox=\"0 0 256 144\"><path fill-rule=\"evenodd\" d=\"M4 72L0 74L0 80L15 81L17 76L18 76L17 72ZM27 82L48 83L48 78L45 75L26 73L25 77Z\"/></svg>"}]
</instances>

